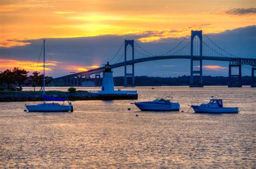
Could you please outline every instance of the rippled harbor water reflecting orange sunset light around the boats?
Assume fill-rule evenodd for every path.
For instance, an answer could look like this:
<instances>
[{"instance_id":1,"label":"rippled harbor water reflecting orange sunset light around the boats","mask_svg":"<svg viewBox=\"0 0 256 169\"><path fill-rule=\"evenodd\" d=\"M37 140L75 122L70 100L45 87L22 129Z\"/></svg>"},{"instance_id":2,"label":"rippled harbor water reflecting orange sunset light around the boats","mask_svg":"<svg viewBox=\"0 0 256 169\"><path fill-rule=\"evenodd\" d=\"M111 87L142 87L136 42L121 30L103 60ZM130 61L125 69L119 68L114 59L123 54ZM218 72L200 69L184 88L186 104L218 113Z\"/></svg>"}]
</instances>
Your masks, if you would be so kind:
<instances>
[{"instance_id":1,"label":"rippled harbor water reflecting orange sunset light around the boats","mask_svg":"<svg viewBox=\"0 0 256 169\"><path fill-rule=\"evenodd\" d=\"M138 100L74 101L72 113L31 113L23 111L25 102L0 103L0 167L256 166L255 88L122 90L137 90ZM180 103L179 112L142 112L130 104L164 95ZM190 109L211 96L223 99L224 106L239 107L239 113Z\"/></svg>"}]
</instances>

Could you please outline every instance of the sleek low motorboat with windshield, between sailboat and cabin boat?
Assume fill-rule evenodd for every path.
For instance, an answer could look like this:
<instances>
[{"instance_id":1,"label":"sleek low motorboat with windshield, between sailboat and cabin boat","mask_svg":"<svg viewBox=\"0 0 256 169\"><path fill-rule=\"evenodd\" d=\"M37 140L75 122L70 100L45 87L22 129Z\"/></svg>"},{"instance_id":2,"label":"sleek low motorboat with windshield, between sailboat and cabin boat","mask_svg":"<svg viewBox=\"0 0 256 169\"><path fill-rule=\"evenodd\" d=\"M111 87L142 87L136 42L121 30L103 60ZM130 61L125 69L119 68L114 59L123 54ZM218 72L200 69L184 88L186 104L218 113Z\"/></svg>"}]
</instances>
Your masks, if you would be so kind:
<instances>
[{"instance_id":1,"label":"sleek low motorboat with windshield, between sailboat and cabin boat","mask_svg":"<svg viewBox=\"0 0 256 169\"><path fill-rule=\"evenodd\" d=\"M179 111L179 103L171 102L171 99L157 98L150 102L133 103L142 111Z\"/></svg>"}]
</instances>

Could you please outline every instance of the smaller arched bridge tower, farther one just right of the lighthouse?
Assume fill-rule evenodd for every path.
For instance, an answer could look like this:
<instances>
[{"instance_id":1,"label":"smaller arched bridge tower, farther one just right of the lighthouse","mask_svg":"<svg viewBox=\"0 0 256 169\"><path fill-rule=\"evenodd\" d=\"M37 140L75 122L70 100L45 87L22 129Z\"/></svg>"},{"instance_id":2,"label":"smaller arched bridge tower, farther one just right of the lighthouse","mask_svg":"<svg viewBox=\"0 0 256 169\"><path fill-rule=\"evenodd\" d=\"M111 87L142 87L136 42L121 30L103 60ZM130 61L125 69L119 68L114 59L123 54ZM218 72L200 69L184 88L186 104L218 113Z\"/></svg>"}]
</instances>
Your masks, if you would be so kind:
<instances>
[{"instance_id":1,"label":"smaller arched bridge tower, farther one just right of the lighthouse","mask_svg":"<svg viewBox=\"0 0 256 169\"><path fill-rule=\"evenodd\" d=\"M132 86L135 86L134 79L134 63L132 65L132 73L127 73L127 46L131 45L132 48L132 60L134 60L134 40L124 40L124 87L127 86L127 76L132 77Z\"/></svg>"}]
</instances>

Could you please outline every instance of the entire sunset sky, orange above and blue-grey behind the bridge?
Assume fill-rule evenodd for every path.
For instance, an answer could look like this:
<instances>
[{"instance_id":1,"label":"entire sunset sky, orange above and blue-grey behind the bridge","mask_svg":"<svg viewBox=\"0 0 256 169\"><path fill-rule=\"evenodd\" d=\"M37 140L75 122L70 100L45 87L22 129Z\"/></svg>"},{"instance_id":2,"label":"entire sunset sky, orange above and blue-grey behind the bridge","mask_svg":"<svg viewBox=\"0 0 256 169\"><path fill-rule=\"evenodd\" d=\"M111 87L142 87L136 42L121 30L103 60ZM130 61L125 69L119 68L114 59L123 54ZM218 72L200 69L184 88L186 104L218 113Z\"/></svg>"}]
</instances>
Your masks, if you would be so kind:
<instances>
[{"instance_id":1,"label":"entire sunset sky, orange above and blue-grey behind the bridge","mask_svg":"<svg viewBox=\"0 0 256 169\"><path fill-rule=\"evenodd\" d=\"M102 66L124 39L152 53L164 53L191 30L203 30L221 48L256 58L256 2L215 1L6 1L0 3L0 71L15 66L52 77ZM203 75L228 76L228 63L204 61ZM250 75L250 66L243 75ZM129 67L130 69L130 67ZM114 69L123 76L124 68ZM190 60L170 59L135 65L136 76L190 75Z\"/></svg>"}]
</instances>

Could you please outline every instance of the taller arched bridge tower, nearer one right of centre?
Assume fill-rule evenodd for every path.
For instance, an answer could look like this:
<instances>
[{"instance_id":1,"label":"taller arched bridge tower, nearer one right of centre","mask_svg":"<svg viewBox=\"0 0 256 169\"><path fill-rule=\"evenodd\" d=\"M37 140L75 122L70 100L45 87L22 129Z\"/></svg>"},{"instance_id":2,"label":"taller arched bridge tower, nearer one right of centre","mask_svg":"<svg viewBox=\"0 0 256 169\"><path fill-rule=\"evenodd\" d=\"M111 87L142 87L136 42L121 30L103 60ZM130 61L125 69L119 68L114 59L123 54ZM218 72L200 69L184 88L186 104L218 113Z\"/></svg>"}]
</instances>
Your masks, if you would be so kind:
<instances>
[{"instance_id":1,"label":"taller arched bridge tower, nearer one right of centre","mask_svg":"<svg viewBox=\"0 0 256 169\"><path fill-rule=\"evenodd\" d=\"M203 35L202 35L202 30L200 31L191 31L191 63L190 63L190 87L204 87L203 85L203 62L202 59L194 59L193 57L193 40L194 37L198 36L200 39L200 57L203 56ZM199 71L194 71L193 70L193 61L194 60L199 60L200 66L199 66ZM199 74L200 76L200 81L199 84L194 83L193 81L193 75L194 74Z\"/></svg>"}]
</instances>

